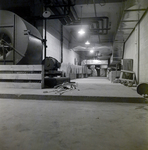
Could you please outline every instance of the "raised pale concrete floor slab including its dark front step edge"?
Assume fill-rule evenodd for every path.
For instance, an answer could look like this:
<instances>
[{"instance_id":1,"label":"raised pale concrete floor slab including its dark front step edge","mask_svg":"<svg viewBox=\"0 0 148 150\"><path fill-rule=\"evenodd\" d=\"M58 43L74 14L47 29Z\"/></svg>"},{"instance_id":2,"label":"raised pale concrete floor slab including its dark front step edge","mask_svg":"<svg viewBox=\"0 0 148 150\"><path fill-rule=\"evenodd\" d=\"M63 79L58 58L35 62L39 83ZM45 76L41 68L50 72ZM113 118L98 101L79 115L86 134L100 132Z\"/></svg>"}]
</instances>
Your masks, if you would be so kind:
<instances>
[{"instance_id":1,"label":"raised pale concrete floor slab including its dark front step edge","mask_svg":"<svg viewBox=\"0 0 148 150\"><path fill-rule=\"evenodd\" d=\"M137 94L136 88L126 87L120 83L111 83L107 78L89 77L71 80L77 83L77 88L68 90L62 95L54 89L16 89L1 88L0 98L44 99L44 100L74 100L102 102L145 102Z\"/></svg>"}]
</instances>

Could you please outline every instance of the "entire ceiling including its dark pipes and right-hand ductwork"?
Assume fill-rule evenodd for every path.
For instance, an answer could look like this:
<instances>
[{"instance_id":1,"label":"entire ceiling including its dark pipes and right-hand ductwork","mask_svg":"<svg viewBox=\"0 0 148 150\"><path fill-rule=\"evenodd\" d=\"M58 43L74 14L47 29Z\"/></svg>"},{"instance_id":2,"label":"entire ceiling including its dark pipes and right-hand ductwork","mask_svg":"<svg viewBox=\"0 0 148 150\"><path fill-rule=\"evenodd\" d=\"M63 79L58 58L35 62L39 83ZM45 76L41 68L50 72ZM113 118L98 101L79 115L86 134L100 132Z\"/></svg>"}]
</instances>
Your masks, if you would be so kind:
<instances>
[{"instance_id":1,"label":"entire ceiling including its dark pipes and right-hand ductwork","mask_svg":"<svg viewBox=\"0 0 148 150\"><path fill-rule=\"evenodd\" d=\"M124 43L147 11L147 0L5 0L0 9L17 12L26 20L41 19L43 7L51 12L47 19L59 19L70 32L69 48L85 59L122 59ZM43 18L42 18L43 19ZM79 29L85 30L79 35ZM85 42L90 44L86 45ZM93 49L94 53L89 51Z\"/></svg>"}]
</instances>

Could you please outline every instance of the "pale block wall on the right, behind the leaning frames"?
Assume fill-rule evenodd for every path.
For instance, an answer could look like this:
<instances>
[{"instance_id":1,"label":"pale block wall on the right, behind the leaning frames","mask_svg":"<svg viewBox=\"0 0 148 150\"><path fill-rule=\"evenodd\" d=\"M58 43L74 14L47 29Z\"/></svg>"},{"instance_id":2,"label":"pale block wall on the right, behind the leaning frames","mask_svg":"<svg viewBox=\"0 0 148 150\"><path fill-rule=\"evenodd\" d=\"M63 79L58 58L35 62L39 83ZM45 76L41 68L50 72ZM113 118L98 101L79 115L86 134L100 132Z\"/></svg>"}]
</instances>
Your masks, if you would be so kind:
<instances>
[{"instance_id":1,"label":"pale block wall on the right, behind the leaning frames","mask_svg":"<svg viewBox=\"0 0 148 150\"><path fill-rule=\"evenodd\" d=\"M124 59L133 59L133 71L139 83L148 82L148 13L125 43Z\"/></svg>"}]
</instances>

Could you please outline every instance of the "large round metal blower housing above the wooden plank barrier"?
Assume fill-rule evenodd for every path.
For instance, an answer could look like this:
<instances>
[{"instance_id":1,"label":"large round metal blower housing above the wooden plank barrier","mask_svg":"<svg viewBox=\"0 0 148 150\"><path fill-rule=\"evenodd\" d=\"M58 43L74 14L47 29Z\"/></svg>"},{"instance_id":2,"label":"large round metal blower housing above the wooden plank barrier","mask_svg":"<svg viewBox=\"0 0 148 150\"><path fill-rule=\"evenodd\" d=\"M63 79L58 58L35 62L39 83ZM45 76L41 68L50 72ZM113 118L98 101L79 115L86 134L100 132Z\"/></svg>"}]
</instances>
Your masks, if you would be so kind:
<instances>
[{"instance_id":1,"label":"large round metal blower housing above the wooden plank barrier","mask_svg":"<svg viewBox=\"0 0 148 150\"><path fill-rule=\"evenodd\" d=\"M13 12L0 10L0 64L41 64L42 37Z\"/></svg>"}]
</instances>

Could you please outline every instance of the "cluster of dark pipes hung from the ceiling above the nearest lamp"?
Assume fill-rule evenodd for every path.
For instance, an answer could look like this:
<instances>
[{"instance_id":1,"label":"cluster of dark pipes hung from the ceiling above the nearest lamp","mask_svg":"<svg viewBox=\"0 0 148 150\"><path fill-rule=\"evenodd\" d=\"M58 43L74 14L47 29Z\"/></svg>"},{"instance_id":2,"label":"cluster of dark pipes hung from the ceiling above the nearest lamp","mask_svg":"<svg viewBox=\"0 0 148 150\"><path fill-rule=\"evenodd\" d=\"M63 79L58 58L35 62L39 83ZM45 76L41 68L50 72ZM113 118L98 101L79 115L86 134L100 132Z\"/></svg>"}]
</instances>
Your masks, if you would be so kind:
<instances>
[{"instance_id":1,"label":"cluster of dark pipes hung from the ceiling above the nearest lamp","mask_svg":"<svg viewBox=\"0 0 148 150\"><path fill-rule=\"evenodd\" d=\"M48 6L55 15L51 15L47 19L59 18L63 25L91 25L91 23L95 23L95 32L98 29L99 34L107 34L109 30L108 17L97 17L95 0L93 0L93 2L95 17L81 18L81 20L79 20L78 15L73 7L74 4L72 4L70 0L68 0L67 2L65 2L64 0L53 0L52 3L48 2L48 4L46 4L46 7Z\"/></svg>"}]
</instances>

